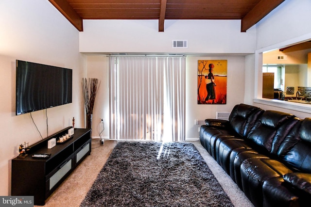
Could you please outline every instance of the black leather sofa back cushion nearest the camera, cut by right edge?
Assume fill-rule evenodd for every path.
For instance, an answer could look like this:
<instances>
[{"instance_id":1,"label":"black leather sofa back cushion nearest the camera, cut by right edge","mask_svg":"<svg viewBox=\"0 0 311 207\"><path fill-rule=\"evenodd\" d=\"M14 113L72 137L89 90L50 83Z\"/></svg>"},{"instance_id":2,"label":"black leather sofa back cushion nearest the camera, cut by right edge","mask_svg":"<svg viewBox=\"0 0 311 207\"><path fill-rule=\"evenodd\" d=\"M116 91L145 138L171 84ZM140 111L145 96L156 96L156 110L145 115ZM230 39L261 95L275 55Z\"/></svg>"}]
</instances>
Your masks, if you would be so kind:
<instances>
[{"instance_id":1,"label":"black leather sofa back cushion nearest the camera, cut by right edge","mask_svg":"<svg viewBox=\"0 0 311 207\"><path fill-rule=\"evenodd\" d=\"M300 120L295 125L277 154L293 168L311 173L311 118Z\"/></svg>"}]
</instances>

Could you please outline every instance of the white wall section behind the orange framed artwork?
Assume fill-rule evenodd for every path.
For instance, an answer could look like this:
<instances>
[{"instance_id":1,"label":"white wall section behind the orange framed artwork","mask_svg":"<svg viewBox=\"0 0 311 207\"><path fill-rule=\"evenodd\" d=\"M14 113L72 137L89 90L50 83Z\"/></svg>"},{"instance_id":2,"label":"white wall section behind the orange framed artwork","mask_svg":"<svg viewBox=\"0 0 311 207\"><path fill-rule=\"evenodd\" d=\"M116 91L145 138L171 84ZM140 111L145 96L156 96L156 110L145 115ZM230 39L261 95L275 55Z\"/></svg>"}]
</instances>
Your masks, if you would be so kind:
<instances>
[{"instance_id":1,"label":"white wall section behind the orange framed artwork","mask_svg":"<svg viewBox=\"0 0 311 207\"><path fill-rule=\"evenodd\" d=\"M227 60L226 104L197 104L198 60ZM216 111L230 112L236 104L244 102L244 56L201 56L186 59L186 139L199 139L198 127L207 118L216 118ZM194 125L194 120L201 122Z\"/></svg>"}]
</instances>

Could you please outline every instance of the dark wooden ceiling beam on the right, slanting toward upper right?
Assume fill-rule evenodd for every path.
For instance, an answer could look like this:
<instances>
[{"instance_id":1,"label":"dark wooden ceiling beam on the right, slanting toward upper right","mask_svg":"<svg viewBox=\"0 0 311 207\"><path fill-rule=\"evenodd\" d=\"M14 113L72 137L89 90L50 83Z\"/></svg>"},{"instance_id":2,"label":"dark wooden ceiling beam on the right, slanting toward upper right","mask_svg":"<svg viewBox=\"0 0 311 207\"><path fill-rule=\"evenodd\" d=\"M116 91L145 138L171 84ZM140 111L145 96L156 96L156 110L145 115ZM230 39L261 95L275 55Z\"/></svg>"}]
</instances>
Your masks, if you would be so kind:
<instances>
[{"instance_id":1,"label":"dark wooden ceiling beam on the right, slanting toward upper right","mask_svg":"<svg viewBox=\"0 0 311 207\"><path fill-rule=\"evenodd\" d=\"M249 13L241 20L241 32L246 32L249 28L268 15L284 0L261 0Z\"/></svg>"}]
</instances>

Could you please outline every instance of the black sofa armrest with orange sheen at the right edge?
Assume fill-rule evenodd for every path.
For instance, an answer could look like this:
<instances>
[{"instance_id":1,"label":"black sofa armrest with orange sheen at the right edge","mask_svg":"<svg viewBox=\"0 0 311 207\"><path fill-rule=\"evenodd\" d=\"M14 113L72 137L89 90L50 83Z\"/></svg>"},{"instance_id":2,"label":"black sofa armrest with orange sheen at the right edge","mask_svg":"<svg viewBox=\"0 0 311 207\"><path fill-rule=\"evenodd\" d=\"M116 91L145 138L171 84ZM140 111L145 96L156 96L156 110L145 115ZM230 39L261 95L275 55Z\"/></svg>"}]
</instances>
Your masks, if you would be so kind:
<instances>
[{"instance_id":1,"label":"black sofa armrest with orange sheen at the right edge","mask_svg":"<svg viewBox=\"0 0 311 207\"><path fill-rule=\"evenodd\" d=\"M311 174L288 173L283 175L283 179L295 189L299 189L311 195Z\"/></svg>"}]
</instances>

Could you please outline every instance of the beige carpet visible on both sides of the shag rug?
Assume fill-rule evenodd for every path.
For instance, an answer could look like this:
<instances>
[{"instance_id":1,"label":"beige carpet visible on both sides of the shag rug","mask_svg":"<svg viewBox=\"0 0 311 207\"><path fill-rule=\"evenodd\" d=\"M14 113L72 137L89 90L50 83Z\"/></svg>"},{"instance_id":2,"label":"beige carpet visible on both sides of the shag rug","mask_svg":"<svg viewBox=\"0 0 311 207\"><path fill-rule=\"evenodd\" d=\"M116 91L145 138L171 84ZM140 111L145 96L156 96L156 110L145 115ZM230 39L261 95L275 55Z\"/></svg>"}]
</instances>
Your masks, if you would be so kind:
<instances>
[{"instance_id":1,"label":"beige carpet visible on both sides of the shag rug","mask_svg":"<svg viewBox=\"0 0 311 207\"><path fill-rule=\"evenodd\" d=\"M199 141L190 143L196 146L202 157L206 160L210 170L216 176L232 203L236 207L253 207L244 193L207 153L201 143ZM105 140L104 145L100 145L99 139L93 139L91 155L87 156L52 193L46 200L45 207L79 207L116 144L117 141Z\"/></svg>"}]
</instances>

